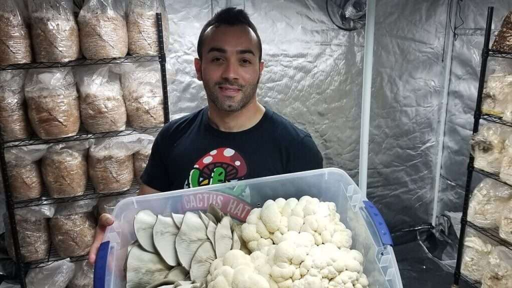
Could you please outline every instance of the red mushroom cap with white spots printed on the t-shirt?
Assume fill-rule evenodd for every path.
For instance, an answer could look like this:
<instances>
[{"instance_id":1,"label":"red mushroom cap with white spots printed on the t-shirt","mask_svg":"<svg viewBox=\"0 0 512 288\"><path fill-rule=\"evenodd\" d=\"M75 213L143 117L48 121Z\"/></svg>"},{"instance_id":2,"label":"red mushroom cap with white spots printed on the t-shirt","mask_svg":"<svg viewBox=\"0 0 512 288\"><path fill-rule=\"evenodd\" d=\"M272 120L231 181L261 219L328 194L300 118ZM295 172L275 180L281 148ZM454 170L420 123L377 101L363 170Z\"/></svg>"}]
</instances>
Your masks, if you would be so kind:
<instances>
[{"instance_id":1,"label":"red mushroom cap with white spots printed on the t-shirt","mask_svg":"<svg viewBox=\"0 0 512 288\"><path fill-rule=\"evenodd\" d=\"M240 179L247 173L247 166L242 156L231 148L218 148L204 155L194 168L201 171L203 178L209 178L212 171L222 167L226 171L226 180Z\"/></svg>"}]
</instances>

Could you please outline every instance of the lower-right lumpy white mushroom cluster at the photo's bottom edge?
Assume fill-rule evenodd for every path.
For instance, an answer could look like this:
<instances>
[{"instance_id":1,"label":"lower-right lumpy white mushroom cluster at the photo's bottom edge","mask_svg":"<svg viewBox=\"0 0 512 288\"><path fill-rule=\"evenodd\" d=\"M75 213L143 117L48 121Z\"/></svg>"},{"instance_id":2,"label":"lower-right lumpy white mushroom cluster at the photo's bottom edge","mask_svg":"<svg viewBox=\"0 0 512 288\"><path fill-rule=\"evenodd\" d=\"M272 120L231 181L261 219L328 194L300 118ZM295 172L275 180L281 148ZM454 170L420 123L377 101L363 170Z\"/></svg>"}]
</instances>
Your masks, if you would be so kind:
<instances>
[{"instance_id":1,"label":"lower-right lumpy white mushroom cluster at the photo's bottom edge","mask_svg":"<svg viewBox=\"0 0 512 288\"><path fill-rule=\"evenodd\" d=\"M364 258L358 251L333 243L316 245L308 232L290 231L281 240L250 255L270 288L368 287L362 273Z\"/></svg>"}]
</instances>

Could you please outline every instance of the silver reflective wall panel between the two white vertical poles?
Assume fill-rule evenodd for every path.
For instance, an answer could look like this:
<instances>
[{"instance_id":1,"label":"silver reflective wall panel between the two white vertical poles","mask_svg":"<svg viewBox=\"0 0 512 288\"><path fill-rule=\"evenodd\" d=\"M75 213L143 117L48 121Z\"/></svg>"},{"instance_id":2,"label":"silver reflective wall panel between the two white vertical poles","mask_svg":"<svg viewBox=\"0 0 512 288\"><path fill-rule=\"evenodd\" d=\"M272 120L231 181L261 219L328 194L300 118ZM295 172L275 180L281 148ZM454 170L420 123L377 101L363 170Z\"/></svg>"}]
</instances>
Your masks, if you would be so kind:
<instances>
[{"instance_id":1,"label":"silver reflective wall panel between the two white vertical poles","mask_svg":"<svg viewBox=\"0 0 512 288\"><path fill-rule=\"evenodd\" d=\"M377 1L368 197L392 231L430 222L446 1Z\"/></svg>"}]
</instances>

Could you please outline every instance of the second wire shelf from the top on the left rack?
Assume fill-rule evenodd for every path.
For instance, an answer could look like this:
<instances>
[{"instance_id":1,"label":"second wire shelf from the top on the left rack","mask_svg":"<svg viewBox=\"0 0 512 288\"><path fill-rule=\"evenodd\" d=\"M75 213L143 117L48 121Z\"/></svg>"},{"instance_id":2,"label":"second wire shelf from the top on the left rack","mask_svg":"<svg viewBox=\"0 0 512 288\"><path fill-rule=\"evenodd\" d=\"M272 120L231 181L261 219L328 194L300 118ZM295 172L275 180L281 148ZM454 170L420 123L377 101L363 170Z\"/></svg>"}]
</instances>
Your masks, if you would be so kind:
<instances>
[{"instance_id":1,"label":"second wire shelf from the top on the left rack","mask_svg":"<svg viewBox=\"0 0 512 288\"><path fill-rule=\"evenodd\" d=\"M32 137L26 138L26 139L16 139L16 140L11 140L11 141L6 141L6 142L4 142L4 148L30 146L30 145L56 143L56 142L69 142L69 141L87 140L87 139L95 139L95 138L108 138L108 137L140 134L140 133L157 133L162 129L162 127L163 126L151 127L151 128L133 128L133 127L130 127L129 125L126 125L126 129L122 130L122 131L89 133L83 126L80 126L78 133L73 136L62 137L62 138L52 138L52 139L41 139L37 136L32 136Z\"/></svg>"}]
</instances>

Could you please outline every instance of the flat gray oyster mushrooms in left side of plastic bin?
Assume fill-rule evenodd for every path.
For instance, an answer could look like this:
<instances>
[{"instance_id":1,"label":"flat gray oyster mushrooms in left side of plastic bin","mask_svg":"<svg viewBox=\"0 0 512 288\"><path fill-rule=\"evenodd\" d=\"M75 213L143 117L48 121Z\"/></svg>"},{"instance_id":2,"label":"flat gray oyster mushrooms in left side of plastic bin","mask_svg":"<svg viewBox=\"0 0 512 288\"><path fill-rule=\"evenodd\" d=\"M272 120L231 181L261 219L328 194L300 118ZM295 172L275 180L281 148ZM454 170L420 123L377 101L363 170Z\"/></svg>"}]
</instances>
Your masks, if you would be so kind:
<instances>
[{"instance_id":1,"label":"flat gray oyster mushrooms in left side of plastic bin","mask_svg":"<svg viewBox=\"0 0 512 288\"><path fill-rule=\"evenodd\" d=\"M215 205L206 214L170 217L141 210L134 230L137 240L125 263L127 288L203 288L214 260L230 250L248 252L242 247L241 225Z\"/></svg>"}]
</instances>

